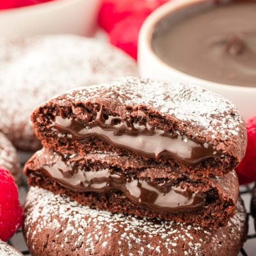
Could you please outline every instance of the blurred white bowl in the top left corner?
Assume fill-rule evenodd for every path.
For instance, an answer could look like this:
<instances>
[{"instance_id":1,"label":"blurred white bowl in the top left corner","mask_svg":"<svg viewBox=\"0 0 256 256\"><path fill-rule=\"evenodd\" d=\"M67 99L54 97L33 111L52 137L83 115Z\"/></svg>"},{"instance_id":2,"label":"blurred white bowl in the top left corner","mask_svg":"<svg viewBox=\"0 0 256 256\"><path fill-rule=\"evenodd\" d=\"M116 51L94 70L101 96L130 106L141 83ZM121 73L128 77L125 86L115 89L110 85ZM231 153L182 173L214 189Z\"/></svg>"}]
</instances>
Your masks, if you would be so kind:
<instances>
[{"instance_id":1,"label":"blurred white bowl in the top left corner","mask_svg":"<svg viewBox=\"0 0 256 256\"><path fill-rule=\"evenodd\" d=\"M2 10L0 36L72 33L91 36L101 0L55 0Z\"/></svg>"}]
</instances>

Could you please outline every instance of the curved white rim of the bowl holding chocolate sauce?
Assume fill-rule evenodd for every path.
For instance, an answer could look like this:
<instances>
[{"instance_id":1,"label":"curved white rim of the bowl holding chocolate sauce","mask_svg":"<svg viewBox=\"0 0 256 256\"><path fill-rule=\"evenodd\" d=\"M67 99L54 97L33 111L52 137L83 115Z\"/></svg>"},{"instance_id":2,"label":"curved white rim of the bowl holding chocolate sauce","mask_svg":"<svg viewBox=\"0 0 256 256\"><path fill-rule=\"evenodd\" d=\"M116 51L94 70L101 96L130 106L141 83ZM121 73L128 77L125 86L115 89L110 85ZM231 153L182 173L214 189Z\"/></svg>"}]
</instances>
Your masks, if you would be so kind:
<instances>
[{"instance_id":1,"label":"curved white rim of the bowl holding chocolate sauce","mask_svg":"<svg viewBox=\"0 0 256 256\"><path fill-rule=\"evenodd\" d=\"M213 3L213 1L214 0L209 1L209 3ZM206 2L205 0L173 0L157 8L154 12L152 12L147 17L145 22L143 22L143 25L140 30L140 38L139 38L140 47L141 48L143 47L144 49L146 49L147 54L150 54L150 57L152 58L152 60L154 60L157 63L157 65L161 65L164 68L164 70L168 70L169 72L175 72L179 76L183 76L186 80L191 80L191 83L200 83L200 84L207 83L207 85L209 86L220 86L221 88L225 87L225 89L228 89L228 90L236 90L236 91L243 90L247 92L256 92L256 86L253 87L253 86L237 86L237 85L224 84L224 83L222 84L222 83L216 83L213 81L205 80L200 77L191 76L180 70L177 70L176 68L168 65L167 63L164 63L164 61L161 60L156 55L156 53L152 49L151 42L152 42L153 33L157 27L157 23L162 19L164 19L164 17L166 17L170 13L174 12L175 10L180 9L183 6L188 6L196 3L206 3ZM139 49L139 52L140 52L140 49ZM141 63L140 54L139 54L138 62L139 64Z\"/></svg>"}]
</instances>

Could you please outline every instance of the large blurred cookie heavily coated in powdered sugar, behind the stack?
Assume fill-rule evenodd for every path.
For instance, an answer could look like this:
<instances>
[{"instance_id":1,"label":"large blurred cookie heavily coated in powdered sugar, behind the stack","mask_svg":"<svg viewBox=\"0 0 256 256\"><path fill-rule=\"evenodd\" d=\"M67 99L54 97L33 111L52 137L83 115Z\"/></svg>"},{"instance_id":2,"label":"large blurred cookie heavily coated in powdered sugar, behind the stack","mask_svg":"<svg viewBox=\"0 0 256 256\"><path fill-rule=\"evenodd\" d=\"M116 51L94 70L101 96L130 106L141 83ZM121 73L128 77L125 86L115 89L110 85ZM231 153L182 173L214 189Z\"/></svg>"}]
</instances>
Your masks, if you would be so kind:
<instances>
[{"instance_id":1,"label":"large blurred cookie heavily coated in powdered sugar, behind the stack","mask_svg":"<svg viewBox=\"0 0 256 256\"><path fill-rule=\"evenodd\" d=\"M41 147L30 115L66 90L136 76L136 63L109 44L74 35L0 39L0 131L20 150Z\"/></svg>"}]
</instances>

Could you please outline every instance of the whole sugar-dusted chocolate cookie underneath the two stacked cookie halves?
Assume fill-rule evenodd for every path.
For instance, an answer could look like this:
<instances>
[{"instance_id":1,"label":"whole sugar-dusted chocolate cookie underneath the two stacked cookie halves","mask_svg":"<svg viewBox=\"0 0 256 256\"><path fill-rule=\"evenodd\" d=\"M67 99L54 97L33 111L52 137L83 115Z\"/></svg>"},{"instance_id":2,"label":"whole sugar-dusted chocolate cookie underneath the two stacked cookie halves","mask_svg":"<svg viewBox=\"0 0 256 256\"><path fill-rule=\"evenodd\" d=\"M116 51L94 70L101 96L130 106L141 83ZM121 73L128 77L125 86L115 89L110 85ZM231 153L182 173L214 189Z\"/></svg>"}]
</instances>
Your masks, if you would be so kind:
<instances>
[{"instance_id":1,"label":"whole sugar-dusted chocolate cookie underneath the two stacked cookie halves","mask_svg":"<svg viewBox=\"0 0 256 256\"><path fill-rule=\"evenodd\" d=\"M97 211L38 188L30 189L25 206L24 236L32 256L235 256L246 232L240 200L236 215L218 230Z\"/></svg>"}]
</instances>

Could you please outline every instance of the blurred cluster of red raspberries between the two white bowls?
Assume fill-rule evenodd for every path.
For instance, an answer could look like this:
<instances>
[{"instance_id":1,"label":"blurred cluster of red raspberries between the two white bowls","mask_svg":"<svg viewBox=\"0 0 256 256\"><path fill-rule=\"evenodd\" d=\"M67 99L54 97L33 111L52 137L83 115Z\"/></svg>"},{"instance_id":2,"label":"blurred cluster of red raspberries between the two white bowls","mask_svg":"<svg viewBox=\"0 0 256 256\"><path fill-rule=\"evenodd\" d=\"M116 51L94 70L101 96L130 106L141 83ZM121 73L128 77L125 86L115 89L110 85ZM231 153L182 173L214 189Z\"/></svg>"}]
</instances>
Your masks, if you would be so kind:
<instances>
[{"instance_id":1,"label":"blurred cluster of red raspberries between the two white bowls","mask_svg":"<svg viewBox=\"0 0 256 256\"><path fill-rule=\"evenodd\" d=\"M109 34L111 44L137 58L138 35L150 13L170 0L104 0L99 25Z\"/></svg>"}]
</instances>

